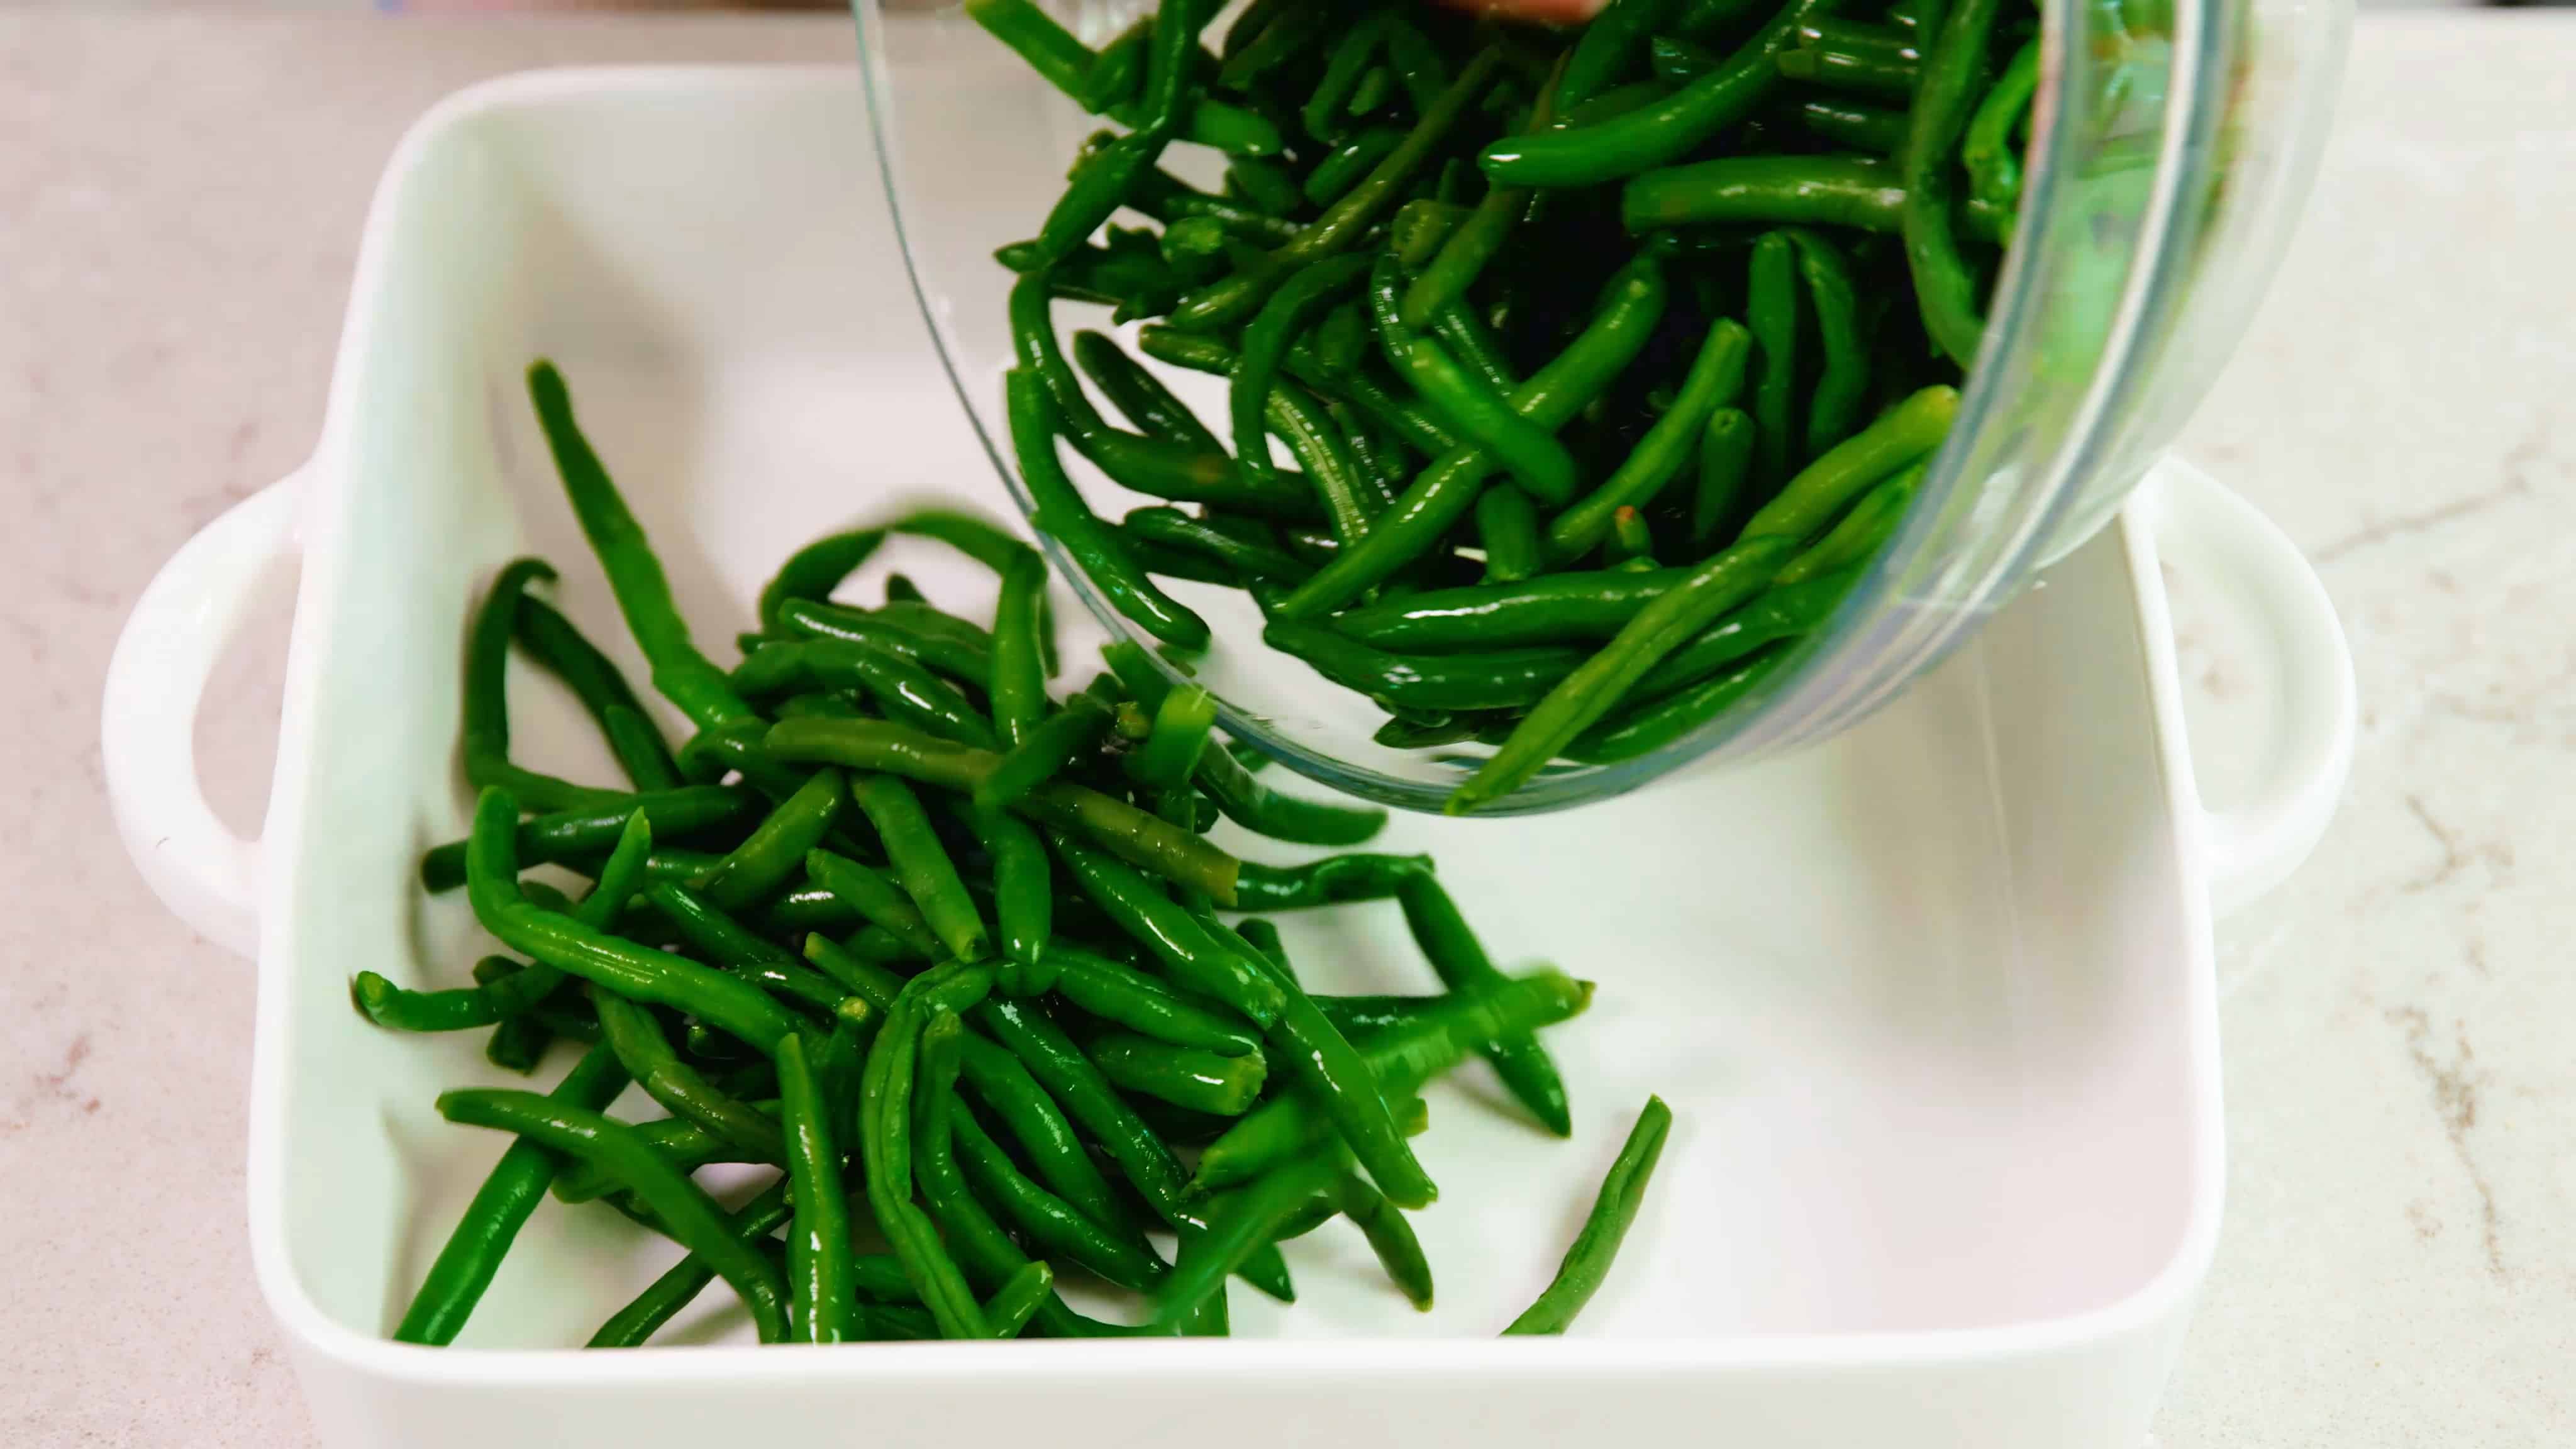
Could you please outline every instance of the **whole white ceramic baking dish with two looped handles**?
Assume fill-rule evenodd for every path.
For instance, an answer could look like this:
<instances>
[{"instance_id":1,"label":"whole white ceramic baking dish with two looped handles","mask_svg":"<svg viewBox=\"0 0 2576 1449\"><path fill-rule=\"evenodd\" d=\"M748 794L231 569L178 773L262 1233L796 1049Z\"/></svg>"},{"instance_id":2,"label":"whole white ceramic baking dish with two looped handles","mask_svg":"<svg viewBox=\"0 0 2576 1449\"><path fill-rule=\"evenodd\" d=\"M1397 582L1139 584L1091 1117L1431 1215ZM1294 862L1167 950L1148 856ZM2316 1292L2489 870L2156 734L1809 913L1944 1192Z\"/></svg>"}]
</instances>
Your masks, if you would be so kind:
<instances>
[{"instance_id":1,"label":"whole white ceramic baking dish with two looped handles","mask_svg":"<svg viewBox=\"0 0 2576 1449\"><path fill-rule=\"evenodd\" d=\"M459 1348L384 1341L500 1147L430 1111L495 1075L474 1042L348 1006L353 969L451 985L474 954L461 902L412 890L466 807L466 608L536 549L636 665L528 423L526 361L564 364L711 642L827 526L933 492L1007 511L868 157L840 72L559 72L438 106L376 196L314 459L193 539L118 645L126 843L173 910L260 962L250 1232L325 1439L2133 1446L2218 1230L2210 887L2262 890L2306 853L2352 732L2313 575L2182 469L1824 748L1569 815L1388 830L1440 853L1502 949L1600 982L1551 1039L1571 1145L1486 1111L1476 1075L1435 1096L1432 1315L1319 1232L1291 1245L1303 1302L1236 1292L1231 1343L750 1348L716 1292L680 1336L708 1346L582 1354L556 1346L670 1250L549 1207ZM2280 748L2236 815L2192 784L2159 544L2275 663ZM304 578L276 792L265 835L237 841L204 807L191 719L283 554ZM904 567L935 596L987 588ZM515 688L526 755L598 763L569 706ZM1285 926L1329 987L1430 985L1391 910ZM1649 1091L1680 1124L1620 1271L1574 1336L1494 1341Z\"/></svg>"}]
</instances>

